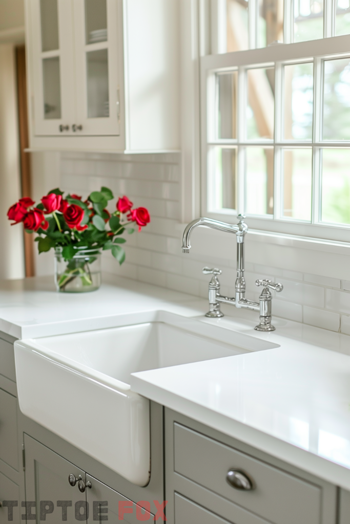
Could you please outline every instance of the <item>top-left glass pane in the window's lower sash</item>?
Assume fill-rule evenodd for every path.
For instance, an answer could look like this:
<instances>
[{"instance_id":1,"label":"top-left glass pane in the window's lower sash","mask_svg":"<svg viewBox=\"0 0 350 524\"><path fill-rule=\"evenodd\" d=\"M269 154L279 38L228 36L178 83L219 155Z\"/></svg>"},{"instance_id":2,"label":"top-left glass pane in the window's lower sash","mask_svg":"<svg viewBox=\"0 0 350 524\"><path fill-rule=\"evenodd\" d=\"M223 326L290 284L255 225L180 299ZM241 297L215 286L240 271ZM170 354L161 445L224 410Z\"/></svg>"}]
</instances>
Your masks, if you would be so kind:
<instances>
[{"instance_id":1,"label":"top-left glass pane in the window's lower sash","mask_svg":"<svg viewBox=\"0 0 350 524\"><path fill-rule=\"evenodd\" d=\"M217 137L237 138L238 72L217 75Z\"/></svg>"}]
</instances>

